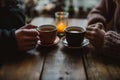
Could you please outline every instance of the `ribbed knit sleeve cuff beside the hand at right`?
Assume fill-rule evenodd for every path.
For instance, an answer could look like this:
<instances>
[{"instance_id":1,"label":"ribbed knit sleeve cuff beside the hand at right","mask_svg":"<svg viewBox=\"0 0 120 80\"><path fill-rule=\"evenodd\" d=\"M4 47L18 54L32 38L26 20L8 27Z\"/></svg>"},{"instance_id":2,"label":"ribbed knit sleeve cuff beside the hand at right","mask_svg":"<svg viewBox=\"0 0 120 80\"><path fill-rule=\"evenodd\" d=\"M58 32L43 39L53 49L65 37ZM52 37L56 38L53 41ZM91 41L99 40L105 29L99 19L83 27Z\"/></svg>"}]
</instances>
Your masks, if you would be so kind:
<instances>
[{"instance_id":1,"label":"ribbed knit sleeve cuff beside the hand at right","mask_svg":"<svg viewBox=\"0 0 120 80\"><path fill-rule=\"evenodd\" d=\"M120 58L120 34L108 31L104 38L103 54L113 58Z\"/></svg>"}]
</instances>

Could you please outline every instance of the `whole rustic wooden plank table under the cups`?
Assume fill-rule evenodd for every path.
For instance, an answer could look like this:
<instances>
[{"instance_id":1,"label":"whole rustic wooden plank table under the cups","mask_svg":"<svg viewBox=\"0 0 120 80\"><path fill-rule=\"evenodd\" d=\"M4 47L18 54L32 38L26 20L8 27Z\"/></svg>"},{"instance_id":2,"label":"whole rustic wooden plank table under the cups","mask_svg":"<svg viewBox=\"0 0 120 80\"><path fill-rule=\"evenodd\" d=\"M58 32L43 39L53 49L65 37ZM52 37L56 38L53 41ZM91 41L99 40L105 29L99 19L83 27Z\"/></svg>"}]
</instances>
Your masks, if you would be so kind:
<instances>
[{"instance_id":1,"label":"whole rustic wooden plank table under the cups","mask_svg":"<svg viewBox=\"0 0 120 80\"><path fill-rule=\"evenodd\" d=\"M52 18L35 18L31 24L53 24ZM70 19L70 25L85 27L86 19ZM90 44L69 49L62 41L53 47L36 47L12 56L0 65L0 80L120 80L118 63L96 55Z\"/></svg>"}]
</instances>

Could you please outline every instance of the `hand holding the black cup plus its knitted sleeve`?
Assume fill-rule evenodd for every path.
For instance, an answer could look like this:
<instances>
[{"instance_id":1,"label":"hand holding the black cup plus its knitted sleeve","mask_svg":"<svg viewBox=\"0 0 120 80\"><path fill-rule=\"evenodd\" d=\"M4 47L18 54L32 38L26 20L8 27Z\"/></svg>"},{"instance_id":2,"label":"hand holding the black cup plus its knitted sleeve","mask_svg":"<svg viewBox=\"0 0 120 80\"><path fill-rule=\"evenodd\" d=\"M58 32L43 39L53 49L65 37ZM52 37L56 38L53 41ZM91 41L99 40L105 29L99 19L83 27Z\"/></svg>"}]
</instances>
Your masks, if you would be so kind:
<instances>
[{"instance_id":1,"label":"hand holding the black cup plus its knitted sleeve","mask_svg":"<svg viewBox=\"0 0 120 80\"><path fill-rule=\"evenodd\" d=\"M88 26L86 37L95 46L97 52L109 58L120 59L120 34L115 31L105 32L101 24ZM102 52L101 52L102 51Z\"/></svg>"}]
</instances>

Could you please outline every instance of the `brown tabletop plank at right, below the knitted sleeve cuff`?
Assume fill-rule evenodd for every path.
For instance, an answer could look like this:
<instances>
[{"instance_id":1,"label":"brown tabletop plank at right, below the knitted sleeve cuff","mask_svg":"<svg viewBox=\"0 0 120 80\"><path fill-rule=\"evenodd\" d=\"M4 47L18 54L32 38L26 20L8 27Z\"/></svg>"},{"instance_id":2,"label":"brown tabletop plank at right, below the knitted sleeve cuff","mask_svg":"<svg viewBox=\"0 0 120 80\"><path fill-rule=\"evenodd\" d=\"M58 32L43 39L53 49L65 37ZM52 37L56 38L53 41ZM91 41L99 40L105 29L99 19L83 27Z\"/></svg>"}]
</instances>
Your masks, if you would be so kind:
<instances>
[{"instance_id":1,"label":"brown tabletop plank at right, below the knitted sleeve cuff","mask_svg":"<svg viewBox=\"0 0 120 80\"><path fill-rule=\"evenodd\" d=\"M88 80L120 80L119 61L102 56L99 51L91 48L84 55Z\"/></svg>"}]
</instances>

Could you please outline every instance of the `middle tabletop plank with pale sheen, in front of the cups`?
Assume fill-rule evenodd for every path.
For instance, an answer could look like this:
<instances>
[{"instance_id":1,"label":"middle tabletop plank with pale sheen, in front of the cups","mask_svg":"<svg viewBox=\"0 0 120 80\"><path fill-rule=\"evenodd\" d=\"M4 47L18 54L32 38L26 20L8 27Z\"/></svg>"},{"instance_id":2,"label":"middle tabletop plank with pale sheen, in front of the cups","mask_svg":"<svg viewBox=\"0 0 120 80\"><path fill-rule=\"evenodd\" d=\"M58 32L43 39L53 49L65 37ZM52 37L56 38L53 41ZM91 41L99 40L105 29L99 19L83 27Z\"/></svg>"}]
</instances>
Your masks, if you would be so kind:
<instances>
[{"instance_id":1,"label":"middle tabletop plank with pale sheen, in front of the cups","mask_svg":"<svg viewBox=\"0 0 120 80\"><path fill-rule=\"evenodd\" d=\"M83 49L68 49L60 42L47 54L41 80L86 80L83 53Z\"/></svg>"}]
</instances>

